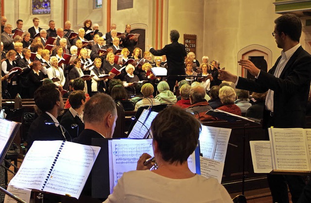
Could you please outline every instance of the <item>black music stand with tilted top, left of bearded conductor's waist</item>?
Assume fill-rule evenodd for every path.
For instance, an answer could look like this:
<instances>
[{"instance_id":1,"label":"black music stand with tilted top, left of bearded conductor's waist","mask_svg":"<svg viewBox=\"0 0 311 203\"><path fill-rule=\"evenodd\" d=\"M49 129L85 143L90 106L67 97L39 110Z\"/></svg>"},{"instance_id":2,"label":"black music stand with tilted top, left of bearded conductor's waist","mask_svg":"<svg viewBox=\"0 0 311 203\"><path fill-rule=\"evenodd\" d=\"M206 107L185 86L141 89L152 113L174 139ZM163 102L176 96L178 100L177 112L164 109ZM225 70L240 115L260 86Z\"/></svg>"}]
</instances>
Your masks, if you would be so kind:
<instances>
[{"instance_id":1,"label":"black music stand with tilted top, left of bearded conductor's waist","mask_svg":"<svg viewBox=\"0 0 311 203\"><path fill-rule=\"evenodd\" d=\"M242 195L244 195L244 188L245 188L245 148L246 148L246 144L245 144L245 127L249 126L250 123L257 123L257 124L261 124L261 120L256 119L256 118L246 118L246 117L242 117L242 116L237 116L235 114L231 114L222 110L214 110L211 109L209 111L207 111L205 114L209 115L209 116L213 116L222 120L226 120L228 122L235 122L237 120L243 120L246 121L246 123L244 123L243 126L243 136L242 136L242 140L243 140L243 159L242 159Z\"/></svg>"}]
</instances>

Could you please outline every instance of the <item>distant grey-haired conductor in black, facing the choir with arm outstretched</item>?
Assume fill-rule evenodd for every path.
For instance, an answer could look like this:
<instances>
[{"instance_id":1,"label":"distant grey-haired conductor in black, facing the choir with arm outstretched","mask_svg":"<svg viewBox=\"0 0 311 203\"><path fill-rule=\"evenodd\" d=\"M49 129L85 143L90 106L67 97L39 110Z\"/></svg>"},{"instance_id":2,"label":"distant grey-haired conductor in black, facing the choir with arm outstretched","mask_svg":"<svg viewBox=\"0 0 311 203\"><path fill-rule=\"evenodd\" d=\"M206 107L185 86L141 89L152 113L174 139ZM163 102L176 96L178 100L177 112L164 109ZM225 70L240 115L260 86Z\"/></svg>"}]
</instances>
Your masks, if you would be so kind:
<instances>
[{"instance_id":1,"label":"distant grey-haired conductor in black, facing the choir with arm outstretched","mask_svg":"<svg viewBox=\"0 0 311 203\"><path fill-rule=\"evenodd\" d=\"M170 90L173 91L176 80L179 82L183 80L182 77L175 77L171 75L185 75L184 60L187 57L185 45L178 43L179 33L177 30L171 30L170 38L172 44L165 45L161 50L150 49L150 52L155 56L166 55L167 58L167 83Z\"/></svg>"}]
</instances>

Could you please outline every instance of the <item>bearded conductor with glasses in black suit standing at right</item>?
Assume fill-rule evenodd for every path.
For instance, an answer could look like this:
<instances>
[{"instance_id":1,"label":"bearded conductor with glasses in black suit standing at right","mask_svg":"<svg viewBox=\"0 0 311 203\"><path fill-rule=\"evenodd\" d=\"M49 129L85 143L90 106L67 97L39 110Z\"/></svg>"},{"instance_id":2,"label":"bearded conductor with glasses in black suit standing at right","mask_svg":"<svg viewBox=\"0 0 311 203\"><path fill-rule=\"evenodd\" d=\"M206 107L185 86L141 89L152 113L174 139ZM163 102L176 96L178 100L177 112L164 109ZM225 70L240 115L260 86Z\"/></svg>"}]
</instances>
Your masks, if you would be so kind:
<instances>
[{"instance_id":1,"label":"bearded conductor with glasses in black suit standing at right","mask_svg":"<svg viewBox=\"0 0 311 203\"><path fill-rule=\"evenodd\" d=\"M268 71L259 70L251 61L241 59L242 68L255 76L255 80L219 70L218 78L235 83L236 88L253 92L265 92L267 98L263 110L263 127L305 128L306 107L311 81L311 55L300 43L302 25L298 17L285 14L276 18L272 35L281 56ZM267 132L267 131L266 131ZM288 203L288 187L292 201L296 203L305 183L298 175L267 175L273 202Z\"/></svg>"}]
</instances>

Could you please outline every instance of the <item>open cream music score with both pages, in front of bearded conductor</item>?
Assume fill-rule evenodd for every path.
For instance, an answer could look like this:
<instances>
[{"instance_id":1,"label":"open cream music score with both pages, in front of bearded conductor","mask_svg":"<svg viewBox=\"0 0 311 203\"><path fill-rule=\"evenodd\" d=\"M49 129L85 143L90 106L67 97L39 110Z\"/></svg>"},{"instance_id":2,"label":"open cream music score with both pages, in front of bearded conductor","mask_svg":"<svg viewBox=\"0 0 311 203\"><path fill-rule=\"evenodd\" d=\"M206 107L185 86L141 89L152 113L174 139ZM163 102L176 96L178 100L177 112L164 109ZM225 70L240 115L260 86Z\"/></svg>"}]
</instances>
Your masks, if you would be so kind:
<instances>
[{"instance_id":1,"label":"open cream music score with both pages, in front of bearded conductor","mask_svg":"<svg viewBox=\"0 0 311 203\"><path fill-rule=\"evenodd\" d=\"M269 128L270 141L250 141L255 173L310 173L311 129Z\"/></svg>"}]
</instances>

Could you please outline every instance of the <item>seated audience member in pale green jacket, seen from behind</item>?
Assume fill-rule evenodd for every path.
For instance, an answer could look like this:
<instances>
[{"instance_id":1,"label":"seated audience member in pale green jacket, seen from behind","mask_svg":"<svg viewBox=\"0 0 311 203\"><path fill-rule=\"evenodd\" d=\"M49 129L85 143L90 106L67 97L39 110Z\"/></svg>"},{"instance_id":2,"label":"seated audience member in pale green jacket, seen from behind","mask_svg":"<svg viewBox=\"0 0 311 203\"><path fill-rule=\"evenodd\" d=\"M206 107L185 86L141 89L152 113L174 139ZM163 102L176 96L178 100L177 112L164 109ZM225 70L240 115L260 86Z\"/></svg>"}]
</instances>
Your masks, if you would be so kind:
<instances>
[{"instance_id":1,"label":"seated audience member in pale green jacket, seen from behind","mask_svg":"<svg viewBox=\"0 0 311 203\"><path fill-rule=\"evenodd\" d=\"M157 85L157 91L159 91L159 94L155 96L155 99L160 103L173 105L177 102L176 96L170 91L170 86L166 81L161 81Z\"/></svg>"}]
</instances>

